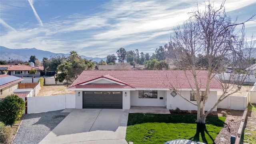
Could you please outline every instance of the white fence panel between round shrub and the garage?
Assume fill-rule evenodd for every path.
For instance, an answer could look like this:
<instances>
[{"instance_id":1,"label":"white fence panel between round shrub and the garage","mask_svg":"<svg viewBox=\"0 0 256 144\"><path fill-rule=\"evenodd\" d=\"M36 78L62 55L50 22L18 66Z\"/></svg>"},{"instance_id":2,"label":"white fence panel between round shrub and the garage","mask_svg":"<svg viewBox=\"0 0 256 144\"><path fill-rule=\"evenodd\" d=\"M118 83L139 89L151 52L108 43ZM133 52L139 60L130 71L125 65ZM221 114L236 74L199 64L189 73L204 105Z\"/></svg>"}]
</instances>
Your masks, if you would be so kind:
<instances>
[{"instance_id":1,"label":"white fence panel between round shrub and the garage","mask_svg":"<svg viewBox=\"0 0 256 144\"><path fill-rule=\"evenodd\" d=\"M75 95L27 97L28 114L75 108Z\"/></svg>"}]
</instances>

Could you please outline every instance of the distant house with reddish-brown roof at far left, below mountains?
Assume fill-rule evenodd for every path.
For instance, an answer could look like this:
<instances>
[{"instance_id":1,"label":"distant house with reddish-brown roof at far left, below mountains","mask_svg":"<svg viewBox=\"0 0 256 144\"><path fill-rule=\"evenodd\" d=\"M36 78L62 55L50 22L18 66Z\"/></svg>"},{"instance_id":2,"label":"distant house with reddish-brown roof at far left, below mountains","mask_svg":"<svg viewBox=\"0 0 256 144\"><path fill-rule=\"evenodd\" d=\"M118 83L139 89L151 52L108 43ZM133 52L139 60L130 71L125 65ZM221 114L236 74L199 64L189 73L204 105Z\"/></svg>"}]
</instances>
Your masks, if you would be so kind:
<instances>
[{"instance_id":1,"label":"distant house with reddish-brown roof at far left, below mountains","mask_svg":"<svg viewBox=\"0 0 256 144\"><path fill-rule=\"evenodd\" d=\"M40 76L41 69L29 65L0 65L2 68L7 67L8 74L12 76L18 77L32 77L32 76ZM36 69L36 74L29 74L31 69Z\"/></svg>"}]
</instances>

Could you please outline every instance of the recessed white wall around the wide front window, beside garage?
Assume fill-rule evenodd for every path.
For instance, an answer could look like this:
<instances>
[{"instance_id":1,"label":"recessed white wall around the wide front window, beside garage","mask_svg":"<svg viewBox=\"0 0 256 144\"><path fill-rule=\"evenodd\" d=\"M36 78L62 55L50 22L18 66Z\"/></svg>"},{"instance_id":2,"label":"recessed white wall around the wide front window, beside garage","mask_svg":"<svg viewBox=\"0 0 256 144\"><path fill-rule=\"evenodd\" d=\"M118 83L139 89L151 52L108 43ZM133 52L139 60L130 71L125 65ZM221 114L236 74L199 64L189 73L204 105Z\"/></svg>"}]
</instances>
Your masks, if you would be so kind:
<instances>
[{"instance_id":1,"label":"recessed white wall around the wide front window, beside garage","mask_svg":"<svg viewBox=\"0 0 256 144\"><path fill-rule=\"evenodd\" d=\"M166 93L163 90L157 91L157 98L139 98L139 91L130 91L131 106L166 106ZM163 97L160 100L160 97Z\"/></svg>"}]
</instances>

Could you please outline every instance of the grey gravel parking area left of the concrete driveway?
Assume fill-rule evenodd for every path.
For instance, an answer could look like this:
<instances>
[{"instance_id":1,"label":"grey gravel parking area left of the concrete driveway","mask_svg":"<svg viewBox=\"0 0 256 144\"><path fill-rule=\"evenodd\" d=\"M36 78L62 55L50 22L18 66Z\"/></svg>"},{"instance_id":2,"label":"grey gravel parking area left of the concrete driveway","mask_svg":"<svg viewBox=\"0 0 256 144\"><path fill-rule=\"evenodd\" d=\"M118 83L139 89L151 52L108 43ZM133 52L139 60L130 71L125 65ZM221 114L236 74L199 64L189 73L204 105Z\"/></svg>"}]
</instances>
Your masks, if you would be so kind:
<instances>
[{"instance_id":1,"label":"grey gravel parking area left of the concrete driveway","mask_svg":"<svg viewBox=\"0 0 256 144\"><path fill-rule=\"evenodd\" d=\"M68 114L69 112L63 113L62 110L26 114L13 144L38 144Z\"/></svg>"}]
</instances>

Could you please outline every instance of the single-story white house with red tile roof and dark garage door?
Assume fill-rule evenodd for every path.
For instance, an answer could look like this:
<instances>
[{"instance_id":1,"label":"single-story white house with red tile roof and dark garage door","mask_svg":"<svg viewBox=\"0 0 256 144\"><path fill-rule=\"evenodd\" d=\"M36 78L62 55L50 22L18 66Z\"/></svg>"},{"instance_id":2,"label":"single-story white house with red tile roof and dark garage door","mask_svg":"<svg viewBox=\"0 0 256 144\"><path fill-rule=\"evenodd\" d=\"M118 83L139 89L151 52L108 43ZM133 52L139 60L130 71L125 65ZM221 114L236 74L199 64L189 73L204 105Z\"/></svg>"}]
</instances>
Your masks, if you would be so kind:
<instances>
[{"instance_id":1,"label":"single-story white house with red tile roof and dark garage door","mask_svg":"<svg viewBox=\"0 0 256 144\"><path fill-rule=\"evenodd\" d=\"M206 88L207 73L198 71L202 91ZM195 88L191 72L186 74ZM167 109L197 110L197 106L173 92L172 86L196 103L182 70L84 70L68 90L76 91L76 108L130 109L131 106L164 106ZM214 77L210 81L206 110L217 101L219 90L222 90L222 84Z\"/></svg>"}]
</instances>

